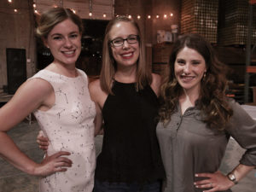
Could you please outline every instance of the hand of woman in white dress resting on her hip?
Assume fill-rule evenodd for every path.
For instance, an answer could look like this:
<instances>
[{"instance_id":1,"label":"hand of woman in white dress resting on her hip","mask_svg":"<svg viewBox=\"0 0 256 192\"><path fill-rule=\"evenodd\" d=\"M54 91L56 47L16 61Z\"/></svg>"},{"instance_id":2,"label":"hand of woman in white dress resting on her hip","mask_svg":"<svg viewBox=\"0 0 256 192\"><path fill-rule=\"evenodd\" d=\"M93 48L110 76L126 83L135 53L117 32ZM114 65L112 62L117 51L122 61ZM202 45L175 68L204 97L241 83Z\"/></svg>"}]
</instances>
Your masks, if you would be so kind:
<instances>
[{"instance_id":1,"label":"hand of woman in white dress resting on her hip","mask_svg":"<svg viewBox=\"0 0 256 192\"><path fill-rule=\"evenodd\" d=\"M66 172L67 167L71 167L73 162L63 155L70 155L70 153L60 151L50 156L46 154L44 160L35 167L33 175L48 176L55 172Z\"/></svg>"}]
</instances>

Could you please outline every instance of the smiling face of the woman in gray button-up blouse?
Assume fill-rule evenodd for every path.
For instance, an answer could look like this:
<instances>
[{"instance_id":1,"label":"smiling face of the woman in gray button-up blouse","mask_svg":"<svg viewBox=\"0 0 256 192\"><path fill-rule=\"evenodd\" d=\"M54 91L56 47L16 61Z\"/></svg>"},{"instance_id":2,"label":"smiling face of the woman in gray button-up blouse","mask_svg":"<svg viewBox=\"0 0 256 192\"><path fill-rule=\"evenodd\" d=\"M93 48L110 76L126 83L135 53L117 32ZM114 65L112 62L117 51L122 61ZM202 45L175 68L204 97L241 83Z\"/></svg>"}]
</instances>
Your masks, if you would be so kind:
<instances>
[{"instance_id":1,"label":"smiling face of the woman in gray button-up blouse","mask_svg":"<svg viewBox=\"0 0 256 192\"><path fill-rule=\"evenodd\" d=\"M184 47L177 53L174 73L178 84L185 90L199 93L201 79L207 72L205 59L195 49Z\"/></svg>"}]
</instances>

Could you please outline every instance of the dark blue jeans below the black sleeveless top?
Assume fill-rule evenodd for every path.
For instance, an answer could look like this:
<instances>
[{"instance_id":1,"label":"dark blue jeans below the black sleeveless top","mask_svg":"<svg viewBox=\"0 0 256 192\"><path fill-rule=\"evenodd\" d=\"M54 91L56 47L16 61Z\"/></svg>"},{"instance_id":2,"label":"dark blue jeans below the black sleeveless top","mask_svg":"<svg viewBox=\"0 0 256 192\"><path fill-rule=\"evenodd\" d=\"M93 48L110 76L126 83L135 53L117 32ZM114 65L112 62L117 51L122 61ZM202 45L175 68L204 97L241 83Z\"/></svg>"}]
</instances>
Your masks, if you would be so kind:
<instances>
[{"instance_id":1,"label":"dark blue jeans below the black sleeveless top","mask_svg":"<svg viewBox=\"0 0 256 192\"><path fill-rule=\"evenodd\" d=\"M160 182L154 183L109 183L95 181L93 192L160 192Z\"/></svg>"}]
</instances>

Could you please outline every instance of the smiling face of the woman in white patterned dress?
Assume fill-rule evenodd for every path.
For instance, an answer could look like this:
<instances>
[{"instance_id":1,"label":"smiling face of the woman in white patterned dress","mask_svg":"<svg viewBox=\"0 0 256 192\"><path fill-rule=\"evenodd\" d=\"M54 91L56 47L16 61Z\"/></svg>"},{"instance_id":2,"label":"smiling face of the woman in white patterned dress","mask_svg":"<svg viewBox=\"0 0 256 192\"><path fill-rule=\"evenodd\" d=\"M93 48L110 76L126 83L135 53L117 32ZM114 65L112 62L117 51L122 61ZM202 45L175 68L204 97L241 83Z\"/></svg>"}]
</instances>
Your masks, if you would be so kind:
<instances>
[{"instance_id":1,"label":"smiling face of the woman in white patterned dress","mask_svg":"<svg viewBox=\"0 0 256 192\"><path fill-rule=\"evenodd\" d=\"M49 32L44 44L49 47L55 63L74 66L81 52L79 26L72 20L63 20Z\"/></svg>"}]
</instances>

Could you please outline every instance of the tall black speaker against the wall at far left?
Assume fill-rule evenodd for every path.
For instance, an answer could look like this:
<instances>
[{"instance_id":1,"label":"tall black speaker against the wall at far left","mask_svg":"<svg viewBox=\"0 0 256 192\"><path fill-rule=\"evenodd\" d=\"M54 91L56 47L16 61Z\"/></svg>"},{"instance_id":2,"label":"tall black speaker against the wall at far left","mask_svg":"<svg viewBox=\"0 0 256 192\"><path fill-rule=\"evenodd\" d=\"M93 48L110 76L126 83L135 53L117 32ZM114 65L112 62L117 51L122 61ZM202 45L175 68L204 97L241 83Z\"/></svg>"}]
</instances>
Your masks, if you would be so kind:
<instances>
[{"instance_id":1,"label":"tall black speaker against the wall at far left","mask_svg":"<svg viewBox=\"0 0 256 192\"><path fill-rule=\"evenodd\" d=\"M8 93L15 94L26 81L26 49L6 49Z\"/></svg>"}]
</instances>

